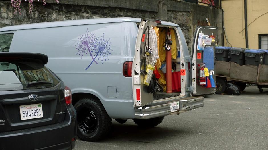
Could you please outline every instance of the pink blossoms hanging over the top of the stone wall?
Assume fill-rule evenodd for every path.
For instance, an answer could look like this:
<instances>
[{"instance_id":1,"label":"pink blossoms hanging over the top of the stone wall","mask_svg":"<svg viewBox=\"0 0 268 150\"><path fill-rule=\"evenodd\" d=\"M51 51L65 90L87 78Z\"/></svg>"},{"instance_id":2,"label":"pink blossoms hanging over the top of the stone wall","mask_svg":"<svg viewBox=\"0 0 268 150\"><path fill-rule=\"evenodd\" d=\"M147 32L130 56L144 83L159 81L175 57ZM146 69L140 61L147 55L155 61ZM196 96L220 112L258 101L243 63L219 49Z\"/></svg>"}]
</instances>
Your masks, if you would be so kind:
<instances>
[{"instance_id":1,"label":"pink blossoms hanging over the top of the stone wall","mask_svg":"<svg viewBox=\"0 0 268 150\"><path fill-rule=\"evenodd\" d=\"M28 1L29 13L33 11L33 1L35 0L25 0ZM39 0L38 0L39 1ZM58 0L55 0L56 3L60 3ZM21 14L21 0L11 0L11 5L14 7L14 14L19 12ZM46 5L46 0L43 0L43 5Z\"/></svg>"}]
</instances>

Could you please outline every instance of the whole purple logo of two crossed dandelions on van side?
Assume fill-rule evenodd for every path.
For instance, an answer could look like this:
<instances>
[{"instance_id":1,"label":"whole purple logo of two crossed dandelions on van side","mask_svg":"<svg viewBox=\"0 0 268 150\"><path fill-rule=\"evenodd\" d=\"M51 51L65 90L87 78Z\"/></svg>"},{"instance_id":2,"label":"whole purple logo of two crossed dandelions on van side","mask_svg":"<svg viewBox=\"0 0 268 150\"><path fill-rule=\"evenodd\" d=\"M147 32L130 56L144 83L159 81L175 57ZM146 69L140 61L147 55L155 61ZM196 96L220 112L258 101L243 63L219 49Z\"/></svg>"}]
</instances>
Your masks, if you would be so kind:
<instances>
[{"instance_id":1,"label":"whole purple logo of two crossed dandelions on van side","mask_svg":"<svg viewBox=\"0 0 268 150\"><path fill-rule=\"evenodd\" d=\"M92 58L92 62L85 69L87 70L93 62L98 64L97 61L101 61L103 64L104 61L109 60L109 55L111 54L111 42L110 39L104 38L103 36L96 38L95 34L89 33L88 29L86 30L86 34L79 34L80 38L78 38L78 43L75 45L77 53L79 57L82 57L89 54ZM97 61L96 61L97 60Z\"/></svg>"}]
</instances>

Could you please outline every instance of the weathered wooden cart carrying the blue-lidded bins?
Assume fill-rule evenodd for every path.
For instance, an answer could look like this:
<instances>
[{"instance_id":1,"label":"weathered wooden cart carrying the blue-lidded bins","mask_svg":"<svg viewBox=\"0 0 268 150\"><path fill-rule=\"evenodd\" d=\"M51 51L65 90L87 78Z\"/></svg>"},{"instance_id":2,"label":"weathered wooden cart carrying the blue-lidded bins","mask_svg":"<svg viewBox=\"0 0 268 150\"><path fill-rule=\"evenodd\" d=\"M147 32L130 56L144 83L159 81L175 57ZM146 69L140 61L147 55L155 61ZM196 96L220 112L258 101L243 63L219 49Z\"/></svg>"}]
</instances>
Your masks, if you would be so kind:
<instances>
[{"instance_id":1,"label":"weathered wooden cart carrying the blue-lidded bins","mask_svg":"<svg viewBox=\"0 0 268 150\"><path fill-rule=\"evenodd\" d=\"M216 94L226 91L227 82L233 82L243 91L246 84L255 84L259 91L268 88L268 65L243 65L234 62L216 61Z\"/></svg>"}]
</instances>

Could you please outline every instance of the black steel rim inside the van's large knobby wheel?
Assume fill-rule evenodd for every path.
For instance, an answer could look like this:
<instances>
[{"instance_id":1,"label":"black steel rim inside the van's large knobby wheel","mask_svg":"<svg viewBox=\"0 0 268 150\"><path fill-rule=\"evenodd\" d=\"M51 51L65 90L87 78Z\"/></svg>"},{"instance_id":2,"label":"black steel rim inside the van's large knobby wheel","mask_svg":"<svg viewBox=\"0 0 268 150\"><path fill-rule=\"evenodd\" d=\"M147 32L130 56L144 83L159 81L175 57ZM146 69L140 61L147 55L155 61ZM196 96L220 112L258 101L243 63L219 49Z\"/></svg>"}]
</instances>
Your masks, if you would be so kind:
<instances>
[{"instance_id":1,"label":"black steel rim inside the van's large knobby wheel","mask_svg":"<svg viewBox=\"0 0 268 150\"><path fill-rule=\"evenodd\" d=\"M82 107L77 110L78 128L84 133L95 132L98 128L98 117L95 111L90 107Z\"/></svg>"}]
</instances>

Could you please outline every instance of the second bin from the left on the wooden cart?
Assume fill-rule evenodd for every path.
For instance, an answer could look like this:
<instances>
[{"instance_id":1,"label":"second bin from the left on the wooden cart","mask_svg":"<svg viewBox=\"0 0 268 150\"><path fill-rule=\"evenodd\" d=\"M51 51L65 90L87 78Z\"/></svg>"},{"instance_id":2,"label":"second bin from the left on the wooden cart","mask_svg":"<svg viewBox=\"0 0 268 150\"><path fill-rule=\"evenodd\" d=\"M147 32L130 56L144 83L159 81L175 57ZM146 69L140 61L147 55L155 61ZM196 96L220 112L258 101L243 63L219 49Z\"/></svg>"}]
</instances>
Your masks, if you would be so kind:
<instances>
[{"instance_id":1,"label":"second bin from the left on the wooden cart","mask_svg":"<svg viewBox=\"0 0 268 150\"><path fill-rule=\"evenodd\" d=\"M240 66L245 64L245 51L244 48L232 47L230 51L230 61L239 64Z\"/></svg>"}]
</instances>

